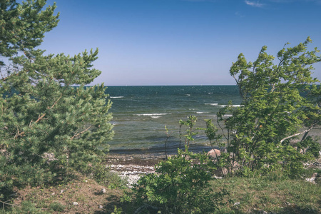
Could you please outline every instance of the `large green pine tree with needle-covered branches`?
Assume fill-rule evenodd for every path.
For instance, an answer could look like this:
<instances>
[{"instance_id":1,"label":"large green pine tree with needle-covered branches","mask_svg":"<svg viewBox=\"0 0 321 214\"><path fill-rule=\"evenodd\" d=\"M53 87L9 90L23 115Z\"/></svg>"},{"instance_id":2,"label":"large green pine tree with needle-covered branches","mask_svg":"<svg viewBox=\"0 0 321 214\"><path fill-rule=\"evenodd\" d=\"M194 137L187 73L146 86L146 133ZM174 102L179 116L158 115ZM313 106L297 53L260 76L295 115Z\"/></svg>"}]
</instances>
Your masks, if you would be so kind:
<instances>
[{"instance_id":1,"label":"large green pine tree with needle-covered branches","mask_svg":"<svg viewBox=\"0 0 321 214\"><path fill-rule=\"evenodd\" d=\"M44 55L36 49L58 24L46 1L0 1L0 188L50 181L101 161L113 136L111 102L96 51Z\"/></svg>"}]
</instances>

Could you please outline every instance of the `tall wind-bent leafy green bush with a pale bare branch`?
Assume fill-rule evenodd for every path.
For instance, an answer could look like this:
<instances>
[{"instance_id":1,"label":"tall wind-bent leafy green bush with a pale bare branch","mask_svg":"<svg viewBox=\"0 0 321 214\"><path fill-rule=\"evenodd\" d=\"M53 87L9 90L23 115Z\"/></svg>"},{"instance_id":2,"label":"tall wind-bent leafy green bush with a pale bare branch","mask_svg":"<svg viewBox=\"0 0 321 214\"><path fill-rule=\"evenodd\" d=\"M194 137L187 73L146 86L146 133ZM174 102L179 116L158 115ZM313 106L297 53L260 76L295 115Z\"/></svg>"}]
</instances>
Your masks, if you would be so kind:
<instances>
[{"instance_id":1,"label":"tall wind-bent leafy green bush with a pale bare branch","mask_svg":"<svg viewBox=\"0 0 321 214\"><path fill-rule=\"evenodd\" d=\"M307 51L311 41L308 37L297 46L284 47L277 60L263 46L256 61L247 61L240 54L231 66L230 75L243 102L238 108L229 103L220 109L218 121L228 131L224 136L228 152L233 153L229 162L238 165L238 173L282 172L285 177L295 177L302 171L302 163L318 155L319 143L307 137L321 124L320 82L311 76L312 65L321 57L316 48ZM233 116L225 118L227 113ZM302 136L299 146L308 148L307 153L290 146L290 139L298 136Z\"/></svg>"}]
</instances>

